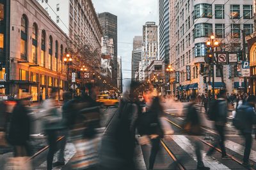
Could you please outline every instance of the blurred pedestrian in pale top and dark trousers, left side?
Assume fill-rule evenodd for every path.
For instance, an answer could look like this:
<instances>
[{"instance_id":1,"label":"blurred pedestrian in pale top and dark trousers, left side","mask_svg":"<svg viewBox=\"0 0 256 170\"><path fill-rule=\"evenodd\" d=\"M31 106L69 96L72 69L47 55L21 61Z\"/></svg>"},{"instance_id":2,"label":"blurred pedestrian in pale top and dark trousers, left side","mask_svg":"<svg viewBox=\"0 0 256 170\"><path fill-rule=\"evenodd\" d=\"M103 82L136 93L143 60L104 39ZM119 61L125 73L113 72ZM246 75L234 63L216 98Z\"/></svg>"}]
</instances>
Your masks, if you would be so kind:
<instances>
[{"instance_id":1,"label":"blurred pedestrian in pale top and dark trousers, left side","mask_svg":"<svg viewBox=\"0 0 256 170\"><path fill-rule=\"evenodd\" d=\"M47 135L47 142L49 145L49 151L47 154L47 170L52 169L52 160L54 153L57 151L58 130L61 129L61 113L59 110L60 105L56 100L57 95L58 89L52 88L49 99L46 99L43 103L44 131Z\"/></svg>"}]
</instances>

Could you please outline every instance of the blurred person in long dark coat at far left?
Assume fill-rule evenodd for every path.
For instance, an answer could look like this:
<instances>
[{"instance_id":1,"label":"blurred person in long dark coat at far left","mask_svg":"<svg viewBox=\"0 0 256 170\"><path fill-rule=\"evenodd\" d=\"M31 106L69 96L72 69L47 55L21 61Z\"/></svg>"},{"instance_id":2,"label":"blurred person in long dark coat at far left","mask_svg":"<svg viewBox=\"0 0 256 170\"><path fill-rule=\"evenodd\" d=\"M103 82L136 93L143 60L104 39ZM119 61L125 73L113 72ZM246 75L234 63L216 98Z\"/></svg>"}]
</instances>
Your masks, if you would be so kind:
<instances>
[{"instance_id":1,"label":"blurred person in long dark coat at far left","mask_svg":"<svg viewBox=\"0 0 256 170\"><path fill-rule=\"evenodd\" d=\"M31 94L22 92L12 111L8 141L13 146L14 157L29 157L32 155L31 146L29 145L31 118L28 115L28 108L26 108L30 99Z\"/></svg>"}]
</instances>

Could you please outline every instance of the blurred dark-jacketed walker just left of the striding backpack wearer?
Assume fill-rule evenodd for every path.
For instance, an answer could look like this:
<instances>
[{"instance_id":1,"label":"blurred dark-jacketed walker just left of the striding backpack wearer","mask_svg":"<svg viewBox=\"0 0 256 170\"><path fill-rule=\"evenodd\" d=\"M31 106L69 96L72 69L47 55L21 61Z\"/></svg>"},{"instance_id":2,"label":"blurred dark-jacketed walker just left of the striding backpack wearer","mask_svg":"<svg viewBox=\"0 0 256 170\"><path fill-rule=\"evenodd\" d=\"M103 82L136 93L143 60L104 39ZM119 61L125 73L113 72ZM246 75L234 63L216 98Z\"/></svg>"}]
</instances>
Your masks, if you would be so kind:
<instances>
[{"instance_id":1,"label":"blurred dark-jacketed walker just left of the striding backpack wearer","mask_svg":"<svg viewBox=\"0 0 256 170\"><path fill-rule=\"evenodd\" d=\"M197 159L197 169L199 170L208 170L209 167L204 166L204 162L202 160L202 146L200 141L196 136L202 135L202 122L200 120L200 115L196 110L196 96L191 95L190 97L191 103L188 104L186 110L186 118L184 120L184 124L182 125L184 131L191 135L193 139L193 144L195 146L196 159Z\"/></svg>"}]
</instances>

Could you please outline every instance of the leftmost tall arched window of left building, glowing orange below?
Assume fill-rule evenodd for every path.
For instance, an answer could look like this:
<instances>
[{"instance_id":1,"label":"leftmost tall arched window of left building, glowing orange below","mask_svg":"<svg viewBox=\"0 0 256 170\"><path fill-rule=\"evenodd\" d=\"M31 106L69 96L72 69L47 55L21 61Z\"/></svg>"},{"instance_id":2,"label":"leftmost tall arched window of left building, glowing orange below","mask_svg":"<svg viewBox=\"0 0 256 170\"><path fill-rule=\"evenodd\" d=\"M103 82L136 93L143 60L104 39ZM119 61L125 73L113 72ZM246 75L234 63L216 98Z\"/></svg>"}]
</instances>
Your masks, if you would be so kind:
<instances>
[{"instance_id":1,"label":"leftmost tall arched window of left building, glowing orange below","mask_svg":"<svg viewBox=\"0 0 256 170\"><path fill-rule=\"evenodd\" d=\"M20 31L20 58L28 60L28 20L25 15L21 17L21 31Z\"/></svg>"}]
</instances>

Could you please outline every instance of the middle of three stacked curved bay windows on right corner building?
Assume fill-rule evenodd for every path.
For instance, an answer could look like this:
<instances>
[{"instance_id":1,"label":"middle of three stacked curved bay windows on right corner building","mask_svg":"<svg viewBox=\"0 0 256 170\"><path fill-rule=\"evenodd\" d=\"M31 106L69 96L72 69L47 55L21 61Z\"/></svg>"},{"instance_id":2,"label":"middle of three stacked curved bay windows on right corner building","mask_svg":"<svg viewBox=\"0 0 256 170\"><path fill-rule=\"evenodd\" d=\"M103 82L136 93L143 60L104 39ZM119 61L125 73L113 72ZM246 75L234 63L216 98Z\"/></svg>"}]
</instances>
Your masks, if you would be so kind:
<instances>
[{"instance_id":1,"label":"middle of three stacked curved bay windows on right corner building","mask_svg":"<svg viewBox=\"0 0 256 170\"><path fill-rule=\"evenodd\" d=\"M212 34L212 24L200 23L195 24L194 38L209 37Z\"/></svg>"}]
</instances>

